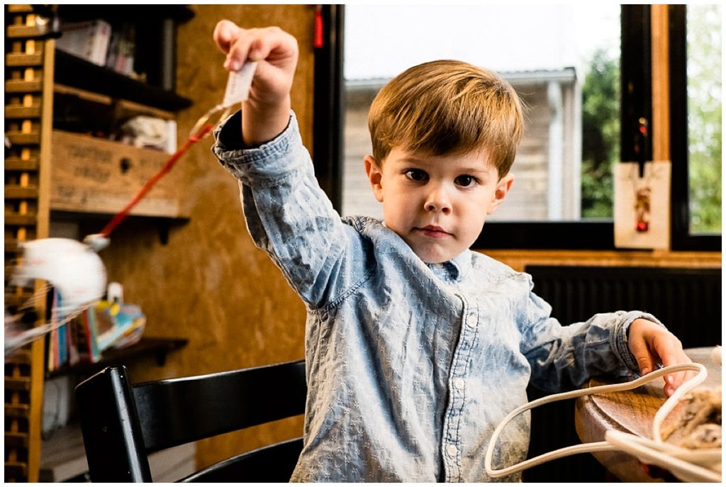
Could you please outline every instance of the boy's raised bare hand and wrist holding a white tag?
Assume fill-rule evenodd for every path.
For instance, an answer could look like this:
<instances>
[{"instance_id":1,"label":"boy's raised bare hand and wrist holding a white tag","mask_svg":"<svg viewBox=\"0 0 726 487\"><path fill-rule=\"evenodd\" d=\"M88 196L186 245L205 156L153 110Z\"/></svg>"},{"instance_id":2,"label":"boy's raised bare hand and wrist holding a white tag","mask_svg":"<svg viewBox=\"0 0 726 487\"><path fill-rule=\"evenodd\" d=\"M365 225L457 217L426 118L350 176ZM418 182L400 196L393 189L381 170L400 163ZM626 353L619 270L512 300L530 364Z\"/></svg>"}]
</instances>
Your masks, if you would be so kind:
<instances>
[{"instance_id":1,"label":"boy's raised bare hand and wrist holding a white tag","mask_svg":"<svg viewBox=\"0 0 726 487\"><path fill-rule=\"evenodd\" d=\"M213 38L227 54L227 70L258 62L249 98L243 102L242 136L247 145L269 142L285 130L290 119L298 42L277 27L242 29L229 20L217 23Z\"/></svg>"}]
</instances>

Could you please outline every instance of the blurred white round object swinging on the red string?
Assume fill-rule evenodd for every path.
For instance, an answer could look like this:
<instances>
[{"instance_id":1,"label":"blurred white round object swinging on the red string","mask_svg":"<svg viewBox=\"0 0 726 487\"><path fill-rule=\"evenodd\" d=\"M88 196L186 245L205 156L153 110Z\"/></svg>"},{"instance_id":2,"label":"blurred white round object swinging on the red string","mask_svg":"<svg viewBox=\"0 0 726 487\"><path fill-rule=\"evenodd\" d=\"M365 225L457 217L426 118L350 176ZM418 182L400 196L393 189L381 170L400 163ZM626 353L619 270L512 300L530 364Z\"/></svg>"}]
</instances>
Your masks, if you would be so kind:
<instances>
[{"instance_id":1,"label":"blurred white round object swinging on the red string","mask_svg":"<svg viewBox=\"0 0 726 487\"><path fill-rule=\"evenodd\" d=\"M71 239L49 238L19 244L23 259L13 285L29 287L33 279L52 284L62 299L57 311L67 315L101 299L106 292L106 269L88 245Z\"/></svg>"}]
</instances>

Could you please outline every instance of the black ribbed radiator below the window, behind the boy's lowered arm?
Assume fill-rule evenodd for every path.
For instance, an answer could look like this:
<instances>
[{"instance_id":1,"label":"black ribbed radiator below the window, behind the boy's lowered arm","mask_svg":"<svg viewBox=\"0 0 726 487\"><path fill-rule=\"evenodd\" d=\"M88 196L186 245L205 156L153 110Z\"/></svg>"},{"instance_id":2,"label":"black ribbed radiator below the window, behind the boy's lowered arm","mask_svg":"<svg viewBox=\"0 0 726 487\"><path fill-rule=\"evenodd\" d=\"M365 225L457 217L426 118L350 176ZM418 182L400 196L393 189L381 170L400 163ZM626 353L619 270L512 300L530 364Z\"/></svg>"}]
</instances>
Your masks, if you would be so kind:
<instances>
[{"instance_id":1,"label":"black ribbed radiator below the window, behind the boy's lowered arm","mask_svg":"<svg viewBox=\"0 0 726 487\"><path fill-rule=\"evenodd\" d=\"M720 345L721 269L656 267L527 266L534 292L552 306L563 325L608 311L648 311L663 322L684 348ZM534 388L529 398L543 396ZM532 411L529 457L580 443L574 427L574 401ZM613 479L590 454L548 462L524 472L527 482L605 482Z\"/></svg>"}]
</instances>

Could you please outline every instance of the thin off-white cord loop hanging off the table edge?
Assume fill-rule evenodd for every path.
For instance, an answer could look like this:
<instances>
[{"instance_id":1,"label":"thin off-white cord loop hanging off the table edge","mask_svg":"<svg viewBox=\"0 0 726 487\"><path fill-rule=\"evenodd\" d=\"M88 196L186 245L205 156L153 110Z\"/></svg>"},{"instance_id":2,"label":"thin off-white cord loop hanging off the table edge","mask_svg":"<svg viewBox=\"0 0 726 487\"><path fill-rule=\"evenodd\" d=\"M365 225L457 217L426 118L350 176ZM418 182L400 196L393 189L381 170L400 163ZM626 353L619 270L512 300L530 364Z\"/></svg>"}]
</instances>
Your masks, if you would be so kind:
<instances>
[{"instance_id":1,"label":"thin off-white cord loop hanging off the table edge","mask_svg":"<svg viewBox=\"0 0 726 487\"><path fill-rule=\"evenodd\" d=\"M519 414L522 414L525 411L528 411L529 409L536 408L537 406L542 406L542 404L549 404L555 401L563 401L564 399L571 399L571 398L577 398L580 396L587 396L590 394L605 394L605 393L611 393L611 392L619 392L621 390L630 390L640 387L641 385L650 382L653 379L657 379L658 377L662 377L664 375L669 375L674 372L682 372L685 370L691 370L696 371L698 374L695 377L690 378L686 382L683 382L680 387L676 390L676 392L666 401L663 406L661 406L660 409L658 409L658 414L656 414L656 420L653 421L653 435L655 435L657 438L661 437L660 434L660 427L661 422L663 421L664 417L666 417L669 412L672 411L674 406L677 404L677 401L682 398L682 396L685 393L688 393L689 390L695 388L698 384L701 384L703 380L706 379L706 375L708 372L706 372L706 367L703 367L702 364L677 364L677 365L671 365L669 367L664 367L662 369L657 369L653 372L650 372L648 375L644 375L643 377L638 377L635 380L632 380L630 382L624 382L622 384L611 384L611 385L598 385L594 388L587 388L587 389L581 389L581 390L571 390L566 393L559 393L559 394L552 394L552 396L546 396L543 398L539 398L535 401L531 401L527 404L523 404L522 406L519 406L517 409L514 409L512 412L507 414L507 416L502 420L502 422L499 423L499 426L494 430L494 433L492 434L492 439L489 441L489 446L486 448L486 457L484 458L484 468L486 470L486 474L489 475L492 478L498 478L498 477L505 477L506 475L513 475L515 473L521 472L522 470L526 470L530 467L534 467L536 465L540 465L545 462L550 462L550 460L562 458L562 457L568 457L569 455L574 454L580 454L580 453L592 453L593 451L612 451L612 450L618 450L621 449L618 445L615 445L608 441L598 441L595 443L584 443L582 445L574 445L574 446L566 446L565 448L557 449L554 451L550 451L548 453L539 455L537 457L525 460L523 462L520 462L518 464L512 465L510 467L505 467L502 469L495 470L492 468L492 457L494 456L494 447L497 445L497 440L499 439L499 435L502 433L502 430L504 430L505 426L513 420L515 417L517 417ZM661 414L661 412L663 412ZM719 476L720 479L720 476Z\"/></svg>"}]
</instances>

